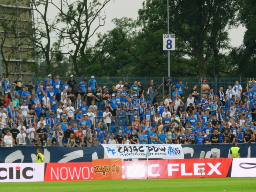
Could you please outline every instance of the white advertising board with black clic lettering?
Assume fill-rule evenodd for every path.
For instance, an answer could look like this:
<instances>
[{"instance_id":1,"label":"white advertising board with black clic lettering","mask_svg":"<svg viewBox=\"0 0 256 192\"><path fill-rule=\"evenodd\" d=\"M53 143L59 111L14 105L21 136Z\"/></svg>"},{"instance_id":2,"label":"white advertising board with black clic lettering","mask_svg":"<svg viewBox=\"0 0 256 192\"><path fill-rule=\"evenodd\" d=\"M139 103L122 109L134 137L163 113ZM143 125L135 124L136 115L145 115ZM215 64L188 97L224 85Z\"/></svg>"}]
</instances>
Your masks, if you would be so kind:
<instances>
[{"instance_id":1,"label":"white advertising board with black clic lettering","mask_svg":"<svg viewBox=\"0 0 256 192\"><path fill-rule=\"evenodd\" d=\"M0 182L44 181L44 163L1 163Z\"/></svg>"}]
</instances>

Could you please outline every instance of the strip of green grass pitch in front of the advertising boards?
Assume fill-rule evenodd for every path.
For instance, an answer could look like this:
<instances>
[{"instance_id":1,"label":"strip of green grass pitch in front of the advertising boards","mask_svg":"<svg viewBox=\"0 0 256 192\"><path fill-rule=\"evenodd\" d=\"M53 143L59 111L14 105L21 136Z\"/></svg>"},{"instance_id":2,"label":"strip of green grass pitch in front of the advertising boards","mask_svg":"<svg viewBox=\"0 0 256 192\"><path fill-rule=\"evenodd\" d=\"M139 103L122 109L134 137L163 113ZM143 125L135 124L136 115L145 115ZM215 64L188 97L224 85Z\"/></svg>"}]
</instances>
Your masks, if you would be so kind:
<instances>
[{"instance_id":1,"label":"strip of green grass pitch in front of the advertising boards","mask_svg":"<svg viewBox=\"0 0 256 192\"><path fill-rule=\"evenodd\" d=\"M255 192L255 178L0 183L1 192Z\"/></svg>"}]
</instances>

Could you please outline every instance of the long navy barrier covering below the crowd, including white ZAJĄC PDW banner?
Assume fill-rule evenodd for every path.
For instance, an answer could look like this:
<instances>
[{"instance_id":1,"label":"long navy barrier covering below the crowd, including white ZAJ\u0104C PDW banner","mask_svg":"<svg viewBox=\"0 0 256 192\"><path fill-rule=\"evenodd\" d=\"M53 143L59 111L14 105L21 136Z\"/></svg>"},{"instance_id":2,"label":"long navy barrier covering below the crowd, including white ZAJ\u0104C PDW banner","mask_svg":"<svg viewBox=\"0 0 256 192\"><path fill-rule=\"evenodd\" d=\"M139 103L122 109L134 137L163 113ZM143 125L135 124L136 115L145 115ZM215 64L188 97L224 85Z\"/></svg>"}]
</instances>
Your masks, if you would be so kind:
<instances>
[{"instance_id":1,"label":"long navy barrier covering below the crowd, including white ZAJ\u0104C PDW banner","mask_svg":"<svg viewBox=\"0 0 256 192\"><path fill-rule=\"evenodd\" d=\"M200 158L203 151L204 158L230 158L232 144L211 145L100 145L95 147L40 147L46 163L58 162L92 162L94 159L121 158L129 160L145 160L146 146L149 159L194 159ZM256 158L256 144L238 144L242 158ZM0 163L32 163L36 159L37 147L6 147L0 148Z\"/></svg>"}]
</instances>

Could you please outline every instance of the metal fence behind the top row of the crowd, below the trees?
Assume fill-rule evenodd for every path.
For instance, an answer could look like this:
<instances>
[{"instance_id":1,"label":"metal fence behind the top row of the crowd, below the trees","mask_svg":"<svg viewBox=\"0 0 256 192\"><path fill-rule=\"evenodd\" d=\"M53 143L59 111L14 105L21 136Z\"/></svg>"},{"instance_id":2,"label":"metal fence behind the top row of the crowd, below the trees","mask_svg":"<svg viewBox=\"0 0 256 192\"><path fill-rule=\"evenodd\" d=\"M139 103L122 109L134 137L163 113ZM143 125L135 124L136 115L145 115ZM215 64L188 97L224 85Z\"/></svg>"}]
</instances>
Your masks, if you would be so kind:
<instances>
[{"instance_id":1,"label":"metal fence behind the top row of the crowd, below the trees","mask_svg":"<svg viewBox=\"0 0 256 192\"><path fill-rule=\"evenodd\" d=\"M54 77L53 77L54 78ZM24 84L27 84L27 82L29 80L32 80L33 83L39 84L40 80L45 80L46 78L42 79L42 78L26 78L26 79L22 79ZM69 80L69 76L66 77L60 77L60 80ZM74 77L74 80L76 80L77 83L82 82L83 79L87 79L90 80L90 76L86 77ZM178 84L180 80L182 80L183 84L188 86L189 89L184 90L184 96L185 98L188 97L188 94L190 93L190 90L193 88L193 85L197 85L197 90L199 93L201 93L201 85L202 85L202 81L206 79L207 80L207 84L211 87L214 88L214 92L216 92L220 86L223 87L223 89L226 91L226 89L228 89L228 85L232 85L232 87L234 86L236 80L239 81L239 84L242 86L243 88L243 92L245 92L246 87L248 86L248 84L250 84L250 82L253 79L253 77L218 77L218 76L214 76L214 77L206 77L206 78L201 78L201 77L171 77L171 86ZM16 80L16 79L14 79ZM14 81L13 79L10 80L10 82ZM148 85L150 84L150 80L154 80L154 84L156 84L157 86L159 86L160 84L162 84L165 80L166 77L96 77L96 81L98 86L107 86L108 90L112 90L112 86L113 85L117 85L118 82L122 80L124 81L128 81L128 85L131 87L133 82L136 80L138 82L140 82L140 84L144 87L144 90L147 90ZM24 82L25 81L25 82ZM173 89L171 88L171 91L173 91ZM162 95L163 95L163 87L161 87L158 90L158 101L162 100ZM202 95L202 94L200 94Z\"/></svg>"}]
</instances>

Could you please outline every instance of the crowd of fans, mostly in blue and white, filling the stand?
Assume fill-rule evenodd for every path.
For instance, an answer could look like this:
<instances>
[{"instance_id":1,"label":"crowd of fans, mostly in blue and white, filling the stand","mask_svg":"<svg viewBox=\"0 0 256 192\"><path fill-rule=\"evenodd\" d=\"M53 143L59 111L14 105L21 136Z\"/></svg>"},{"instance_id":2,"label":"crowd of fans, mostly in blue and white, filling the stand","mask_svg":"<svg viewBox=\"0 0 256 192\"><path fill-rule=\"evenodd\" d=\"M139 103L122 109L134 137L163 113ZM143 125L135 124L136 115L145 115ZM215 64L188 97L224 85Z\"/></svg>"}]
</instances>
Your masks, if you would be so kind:
<instances>
[{"instance_id":1,"label":"crowd of fans, mostly in blue and white, filling the stand","mask_svg":"<svg viewBox=\"0 0 256 192\"><path fill-rule=\"evenodd\" d=\"M1 84L1 147L256 142L254 80L244 92L238 81L214 92L203 80L202 90L194 85L188 98L183 91L189 87L182 81L171 87L170 78L159 86L150 80L145 88L120 81L112 90L94 76L77 83L73 75L62 82L49 74L37 85L4 77Z\"/></svg>"}]
</instances>

